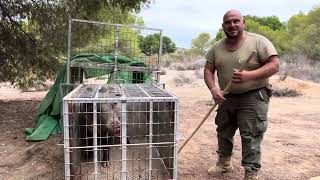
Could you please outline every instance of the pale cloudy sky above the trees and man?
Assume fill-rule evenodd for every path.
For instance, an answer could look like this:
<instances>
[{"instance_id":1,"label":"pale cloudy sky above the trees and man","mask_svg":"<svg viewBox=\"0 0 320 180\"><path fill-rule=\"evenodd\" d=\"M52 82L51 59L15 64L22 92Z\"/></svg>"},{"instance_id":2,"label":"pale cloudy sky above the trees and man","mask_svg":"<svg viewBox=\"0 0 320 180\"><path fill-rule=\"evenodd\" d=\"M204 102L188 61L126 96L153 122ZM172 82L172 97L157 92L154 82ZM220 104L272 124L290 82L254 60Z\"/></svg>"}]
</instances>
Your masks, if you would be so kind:
<instances>
[{"instance_id":1,"label":"pale cloudy sky above the trees and man","mask_svg":"<svg viewBox=\"0 0 320 180\"><path fill-rule=\"evenodd\" d=\"M284 22L319 6L320 0L153 0L139 15L146 27L162 29L177 47L190 48L200 33L208 32L214 38L230 9L238 9L242 15L274 15Z\"/></svg>"}]
</instances>

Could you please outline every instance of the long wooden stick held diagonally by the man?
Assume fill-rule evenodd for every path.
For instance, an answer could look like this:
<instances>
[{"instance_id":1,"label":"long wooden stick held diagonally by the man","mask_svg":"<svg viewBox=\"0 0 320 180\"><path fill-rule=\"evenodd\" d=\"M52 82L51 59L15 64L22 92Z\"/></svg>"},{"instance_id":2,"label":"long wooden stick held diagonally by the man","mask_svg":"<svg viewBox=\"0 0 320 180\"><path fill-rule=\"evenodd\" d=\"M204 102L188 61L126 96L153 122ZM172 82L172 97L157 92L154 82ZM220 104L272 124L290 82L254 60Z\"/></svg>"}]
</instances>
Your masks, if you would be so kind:
<instances>
[{"instance_id":1,"label":"long wooden stick held diagonally by the man","mask_svg":"<svg viewBox=\"0 0 320 180\"><path fill-rule=\"evenodd\" d=\"M243 69L247 66L247 64L249 63L249 61L252 59L252 57L257 53L256 50L253 50L250 54L250 56L247 58L247 60L242 64L242 66L240 67L239 71L243 71ZM231 88L232 85L232 80L230 80L226 86L226 88L223 90L223 95L225 95ZM198 124L198 126L196 127L195 130L193 130L193 132L191 133L191 135L187 138L187 140L185 140L181 146L179 147L178 153L181 152L181 150L183 149L183 147L189 142L189 140L194 136L194 134L199 130L199 128L202 126L202 124L207 120L207 118L210 116L211 112L214 110L214 108L217 106L218 104L215 102L214 105L210 108L210 110L207 112L207 114L204 116L204 118L202 119L202 121Z\"/></svg>"}]
</instances>

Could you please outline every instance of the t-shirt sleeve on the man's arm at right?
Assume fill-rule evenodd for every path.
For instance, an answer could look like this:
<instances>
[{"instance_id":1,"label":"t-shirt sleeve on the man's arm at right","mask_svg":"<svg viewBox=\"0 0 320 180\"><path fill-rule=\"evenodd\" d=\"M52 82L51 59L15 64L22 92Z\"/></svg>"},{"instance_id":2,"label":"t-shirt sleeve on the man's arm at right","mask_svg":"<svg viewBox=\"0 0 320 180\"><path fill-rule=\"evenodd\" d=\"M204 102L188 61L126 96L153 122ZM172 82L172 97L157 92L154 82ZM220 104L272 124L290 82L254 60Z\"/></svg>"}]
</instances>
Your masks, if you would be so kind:
<instances>
[{"instance_id":1,"label":"t-shirt sleeve on the man's arm at right","mask_svg":"<svg viewBox=\"0 0 320 180\"><path fill-rule=\"evenodd\" d=\"M264 62L270 56L278 55L276 48L273 46L272 42L261 36L257 42L258 56L260 62Z\"/></svg>"}]
</instances>

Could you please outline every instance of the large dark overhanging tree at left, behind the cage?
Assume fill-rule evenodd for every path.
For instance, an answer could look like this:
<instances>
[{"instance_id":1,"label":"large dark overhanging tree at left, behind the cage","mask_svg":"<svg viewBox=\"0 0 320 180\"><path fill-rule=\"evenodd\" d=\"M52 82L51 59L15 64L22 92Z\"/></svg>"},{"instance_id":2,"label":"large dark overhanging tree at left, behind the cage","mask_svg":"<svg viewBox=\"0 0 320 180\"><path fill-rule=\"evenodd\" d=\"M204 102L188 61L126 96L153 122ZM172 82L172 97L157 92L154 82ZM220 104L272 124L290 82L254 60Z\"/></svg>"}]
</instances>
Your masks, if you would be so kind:
<instances>
[{"instance_id":1,"label":"large dark overhanging tree at left, behind the cage","mask_svg":"<svg viewBox=\"0 0 320 180\"><path fill-rule=\"evenodd\" d=\"M128 24L135 19L133 13L149 3L150 0L1 0L0 81L23 87L54 77L66 56L69 17ZM81 43L85 44L90 39L85 34L90 33L83 34Z\"/></svg>"}]
</instances>

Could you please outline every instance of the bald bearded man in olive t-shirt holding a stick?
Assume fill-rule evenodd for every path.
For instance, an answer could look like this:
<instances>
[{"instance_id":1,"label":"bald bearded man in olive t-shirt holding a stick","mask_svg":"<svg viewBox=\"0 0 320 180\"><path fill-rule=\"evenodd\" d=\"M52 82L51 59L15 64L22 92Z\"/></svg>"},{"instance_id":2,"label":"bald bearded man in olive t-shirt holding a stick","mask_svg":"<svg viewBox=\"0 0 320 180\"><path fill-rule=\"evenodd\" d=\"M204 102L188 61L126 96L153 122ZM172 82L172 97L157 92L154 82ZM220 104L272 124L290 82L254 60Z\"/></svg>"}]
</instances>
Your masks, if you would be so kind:
<instances>
[{"instance_id":1,"label":"bald bearded man in olive t-shirt holding a stick","mask_svg":"<svg viewBox=\"0 0 320 180\"><path fill-rule=\"evenodd\" d=\"M261 167L260 145L267 129L267 112L271 90L268 78L279 70L279 58L272 43L265 37L244 31L245 20L237 10L229 10L222 23L225 38L218 41L206 54L205 82L216 103L219 104L217 125L218 161L208 170L209 174L233 169L231 156L233 136L239 128L242 142L244 179L257 179ZM252 51L257 54L245 70L241 64ZM215 85L217 71L219 87ZM229 81L232 86L223 96L222 90Z\"/></svg>"}]
</instances>

